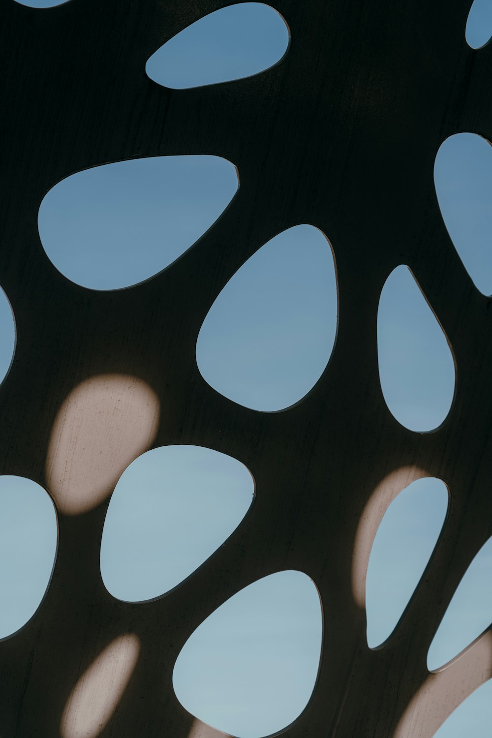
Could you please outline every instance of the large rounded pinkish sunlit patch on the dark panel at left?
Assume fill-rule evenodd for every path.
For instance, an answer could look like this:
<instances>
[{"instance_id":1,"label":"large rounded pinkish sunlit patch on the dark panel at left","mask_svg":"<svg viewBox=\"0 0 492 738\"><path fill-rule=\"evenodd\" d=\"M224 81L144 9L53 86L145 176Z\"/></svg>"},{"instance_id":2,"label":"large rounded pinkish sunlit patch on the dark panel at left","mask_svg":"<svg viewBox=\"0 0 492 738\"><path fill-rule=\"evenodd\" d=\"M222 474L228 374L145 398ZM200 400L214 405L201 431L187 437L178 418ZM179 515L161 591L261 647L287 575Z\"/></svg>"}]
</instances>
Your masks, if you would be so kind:
<instances>
[{"instance_id":1,"label":"large rounded pinkish sunlit patch on the dark panel at left","mask_svg":"<svg viewBox=\"0 0 492 738\"><path fill-rule=\"evenodd\" d=\"M142 379L100 374L81 382L55 418L46 482L61 511L99 505L159 427L159 399Z\"/></svg>"}]
</instances>

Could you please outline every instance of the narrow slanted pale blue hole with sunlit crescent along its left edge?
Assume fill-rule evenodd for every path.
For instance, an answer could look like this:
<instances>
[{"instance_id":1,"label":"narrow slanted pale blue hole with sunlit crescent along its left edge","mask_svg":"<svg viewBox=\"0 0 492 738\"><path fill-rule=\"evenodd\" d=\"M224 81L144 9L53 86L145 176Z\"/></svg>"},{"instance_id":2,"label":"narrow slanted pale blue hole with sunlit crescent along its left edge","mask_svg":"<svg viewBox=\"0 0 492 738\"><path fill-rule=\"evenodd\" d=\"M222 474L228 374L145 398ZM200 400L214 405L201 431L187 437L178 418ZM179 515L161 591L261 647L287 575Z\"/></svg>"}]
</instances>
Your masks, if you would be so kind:
<instances>
[{"instance_id":1,"label":"narrow slanted pale blue hole with sunlit crescent along its left edge","mask_svg":"<svg viewBox=\"0 0 492 738\"><path fill-rule=\"evenodd\" d=\"M367 644L386 641L429 562L443 528L448 488L440 479L417 479L395 497L371 549L366 580Z\"/></svg>"}]
</instances>

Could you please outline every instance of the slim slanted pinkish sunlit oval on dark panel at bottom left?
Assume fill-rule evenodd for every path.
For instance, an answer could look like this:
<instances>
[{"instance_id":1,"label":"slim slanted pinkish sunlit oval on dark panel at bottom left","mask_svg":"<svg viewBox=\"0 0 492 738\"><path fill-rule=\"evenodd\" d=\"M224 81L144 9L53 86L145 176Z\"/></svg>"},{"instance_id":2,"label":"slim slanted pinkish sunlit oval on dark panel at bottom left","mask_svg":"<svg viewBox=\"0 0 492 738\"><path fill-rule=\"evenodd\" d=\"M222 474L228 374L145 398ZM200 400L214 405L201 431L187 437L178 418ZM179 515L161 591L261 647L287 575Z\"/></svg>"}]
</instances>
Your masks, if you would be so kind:
<instances>
[{"instance_id":1,"label":"slim slanted pinkish sunlit oval on dark panel at bottom left","mask_svg":"<svg viewBox=\"0 0 492 738\"><path fill-rule=\"evenodd\" d=\"M136 635L115 638L80 677L60 723L62 738L97 738L125 692L139 658Z\"/></svg>"}]
</instances>

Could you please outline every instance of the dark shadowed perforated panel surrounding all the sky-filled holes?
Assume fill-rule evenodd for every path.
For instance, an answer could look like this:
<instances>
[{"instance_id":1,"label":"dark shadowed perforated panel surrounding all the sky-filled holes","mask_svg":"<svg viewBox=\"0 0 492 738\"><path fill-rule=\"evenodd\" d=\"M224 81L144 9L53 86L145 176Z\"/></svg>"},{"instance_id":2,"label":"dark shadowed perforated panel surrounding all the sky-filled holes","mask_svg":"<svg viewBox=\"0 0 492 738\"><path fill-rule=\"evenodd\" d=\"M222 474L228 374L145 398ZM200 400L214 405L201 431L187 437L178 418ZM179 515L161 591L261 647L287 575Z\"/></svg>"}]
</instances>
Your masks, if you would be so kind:
<instances>
[{"instance_id":1,"label":"dark shadowed perforated panel surrounding all the sky-filled holes","mask_svg":"<svg viewBox=\"0 0 492 738\"><path fill-rule=\"evenodd\" d=\"M426 670L454 589L492 534L491 301L451 244L433 182L446 137L492 137L492 45L475 51L465 43L471 0L279 0L291 46L274 68L184 91L146 77L145 61L164 41L226 4L71 0L41 11L0 1L0 284L17 326L0 388L0 472L30 477L56 499L46 457L60 407L77 384L109 374L135 377L156 393L154 446L226 452L246 463L257 486L243 523L181 587L125 604L100 579L108 495L121 471L103 449L112 480L105 500L81 514L58 505L46 599L0 643L2 738L58 737L80 675L124 633L138 636L140 657L100 737L186 738L193 718L171 684L181 646L233 593L283 569L313 578L325 618L318 683L289 737L430 738L492 675L489 633L444 672ZM215 154L237 165L240 190L226 213L139 286L92 292L69 283L39 241L46 191L83 168L166 154ZM322 229L333 246L338 337L305 399L259 413L204 382L195 341L229 277L299 223ZM401 263L414 272L457 364L451 412L426 434L392 418L378 379L378 299ZM397 629L371 651L354 596L353 571L364 570L358 562L368 555L360 531L377 525L390 497L422 475L448 484L448 518ZM367 508L376 489L381 506ZM201 730L195 726L194 738L215 735Z\"/></svg>"}]
</instances>

